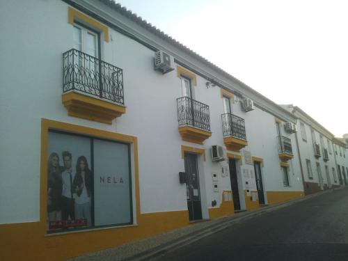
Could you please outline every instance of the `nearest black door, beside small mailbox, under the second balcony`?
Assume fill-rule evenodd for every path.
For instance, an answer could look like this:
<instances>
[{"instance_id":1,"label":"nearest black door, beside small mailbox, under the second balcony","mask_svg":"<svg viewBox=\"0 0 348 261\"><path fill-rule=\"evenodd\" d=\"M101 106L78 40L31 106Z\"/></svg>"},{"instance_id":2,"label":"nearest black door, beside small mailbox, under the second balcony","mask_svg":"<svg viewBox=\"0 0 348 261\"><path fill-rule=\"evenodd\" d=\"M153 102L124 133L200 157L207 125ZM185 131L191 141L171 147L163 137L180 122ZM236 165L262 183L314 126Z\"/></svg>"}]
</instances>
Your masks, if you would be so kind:
<instances>
[{"instance_id":1,"label":"nearest black door, beside small mailbox, under the second balcony","mask_svg":"<svg viewBox=\"0 0 348 261\"><path fill-rule=\"evenodd\" d=\"M189 219L202 219L202 207L200 205L200 190L198 179L197 155L186 154L184 157L185 172L187 173L187 207L189 208Z\"/></svg>"}]
</instances>

